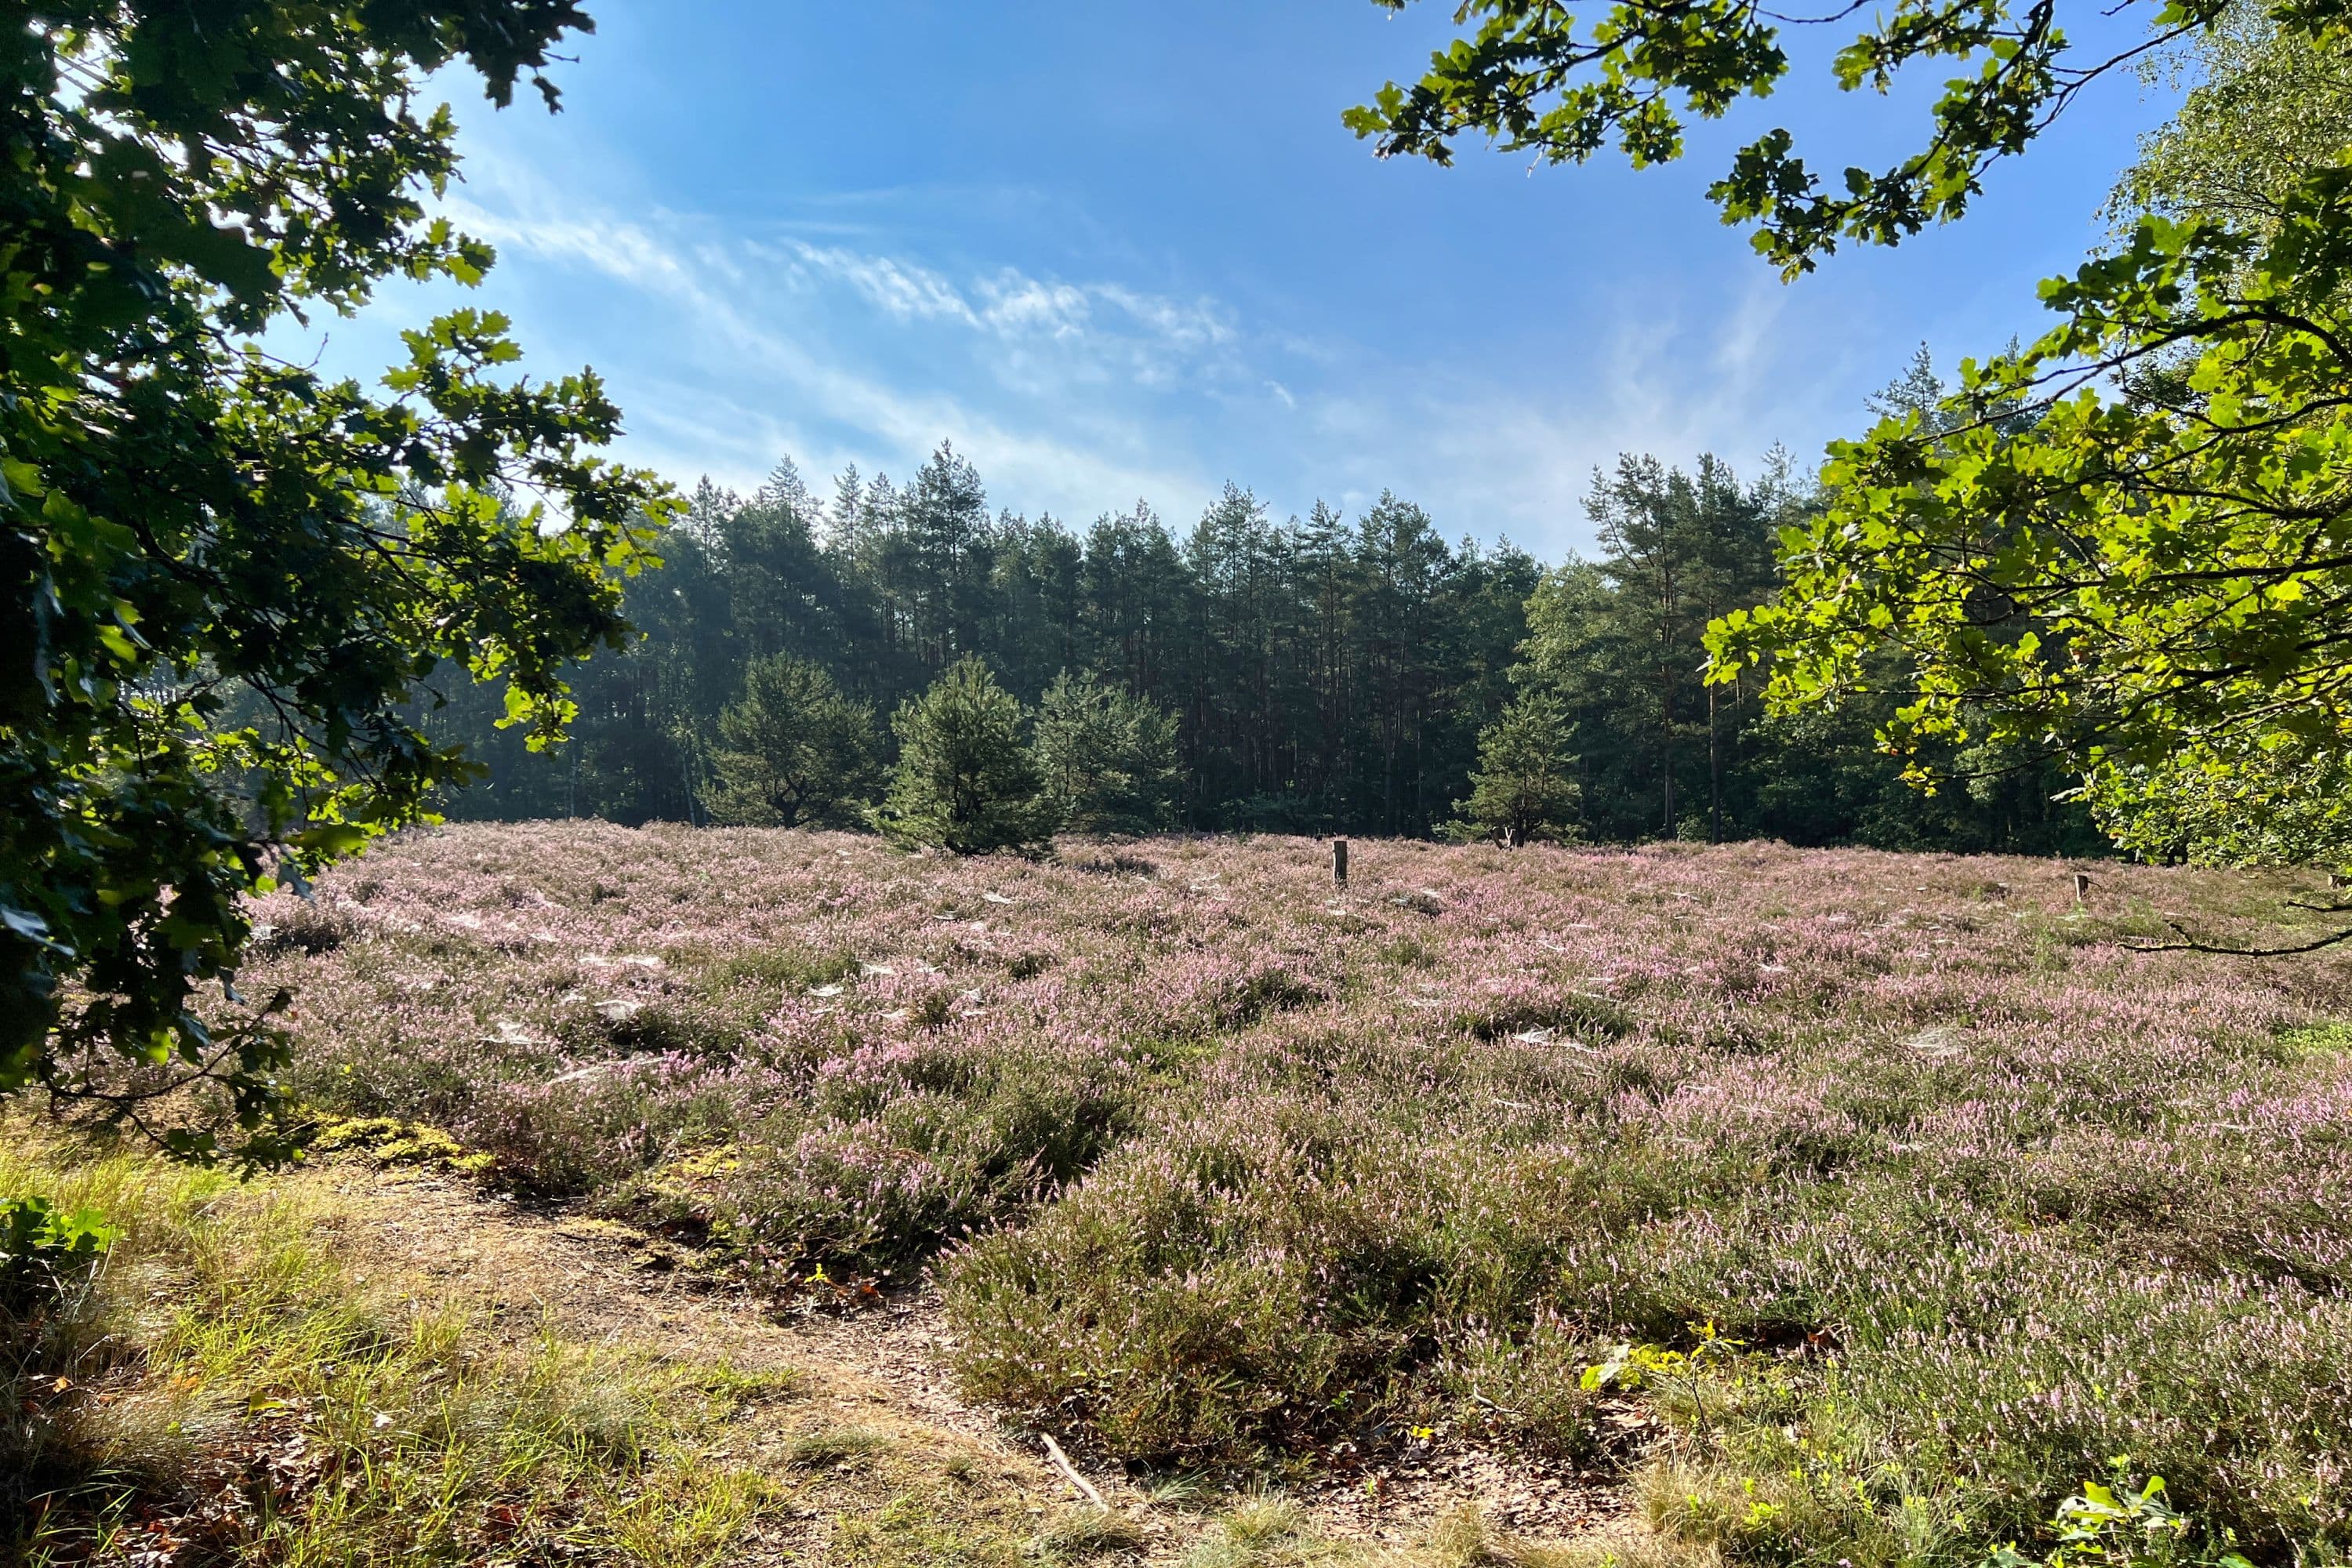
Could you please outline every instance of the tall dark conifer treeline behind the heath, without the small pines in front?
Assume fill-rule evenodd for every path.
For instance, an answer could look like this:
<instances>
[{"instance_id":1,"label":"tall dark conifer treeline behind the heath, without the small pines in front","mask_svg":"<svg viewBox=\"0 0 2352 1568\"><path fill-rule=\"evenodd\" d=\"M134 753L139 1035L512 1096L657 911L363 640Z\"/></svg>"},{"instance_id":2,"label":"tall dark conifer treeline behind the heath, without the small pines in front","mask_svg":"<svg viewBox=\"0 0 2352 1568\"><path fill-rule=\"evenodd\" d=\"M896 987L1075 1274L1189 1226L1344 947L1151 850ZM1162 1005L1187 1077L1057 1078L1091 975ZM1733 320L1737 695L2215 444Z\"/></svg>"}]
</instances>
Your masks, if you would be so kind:
<instances>
[{"instance_id":1,"label":"tall dark conifer treeline behind the heath, without the small pines in front","mask_svg":"<svg viewBox=\"0 0 2352 1568\"><path fill-rule=\"evenodd\" d=\"M572 745L527 752L463 682L430 726L489 764L452 816L710 823L717 715L753 661L814 661L887 738L978 654L1023 703L1070 672L1167 708L1185 827L1425 835L1468 795L1479 731L1541 689L1573 719L1585 837L2093 846L2042 769L1924 799L1872 750L1872 710L1790 726L1700 684L1708 618L1771 592L1799 505L1778 465L1743 484L1712 458L1625 458L1588 501L1599 555L1545 571L1510 543L1446 543L1390 494L1275 520L1228 484L1183 534L1143 503L1077 531L990 515L950 447L908 484L851 470L826 501L781 463L748 498L699 487L666 567L628 590L642 639L574 677Z\"/></svg>"}]
</instances>

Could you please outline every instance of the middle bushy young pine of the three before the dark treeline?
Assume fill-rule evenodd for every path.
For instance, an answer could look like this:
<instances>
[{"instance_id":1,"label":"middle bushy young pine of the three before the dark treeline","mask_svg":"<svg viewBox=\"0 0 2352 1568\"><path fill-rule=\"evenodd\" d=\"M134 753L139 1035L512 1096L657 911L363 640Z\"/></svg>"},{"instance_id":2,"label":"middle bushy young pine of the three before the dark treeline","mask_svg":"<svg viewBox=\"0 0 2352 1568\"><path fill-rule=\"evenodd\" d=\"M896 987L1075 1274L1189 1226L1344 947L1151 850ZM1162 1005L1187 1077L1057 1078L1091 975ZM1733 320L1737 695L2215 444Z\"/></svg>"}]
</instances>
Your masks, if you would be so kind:
<instances>
[{"instance_id":1,"label":"middle bushy young pine of the three before the dark treeline","mask_svg":"<svg viewBox=\"0 0 2352 1568\"><path fill-rule=\"evenodd\" d=\"M981 658L898 708L898 766L873 825L894 844L985 856L1054 837L1058 806L1021 736L1028 715Z\"/></svg>"}]
</instances>

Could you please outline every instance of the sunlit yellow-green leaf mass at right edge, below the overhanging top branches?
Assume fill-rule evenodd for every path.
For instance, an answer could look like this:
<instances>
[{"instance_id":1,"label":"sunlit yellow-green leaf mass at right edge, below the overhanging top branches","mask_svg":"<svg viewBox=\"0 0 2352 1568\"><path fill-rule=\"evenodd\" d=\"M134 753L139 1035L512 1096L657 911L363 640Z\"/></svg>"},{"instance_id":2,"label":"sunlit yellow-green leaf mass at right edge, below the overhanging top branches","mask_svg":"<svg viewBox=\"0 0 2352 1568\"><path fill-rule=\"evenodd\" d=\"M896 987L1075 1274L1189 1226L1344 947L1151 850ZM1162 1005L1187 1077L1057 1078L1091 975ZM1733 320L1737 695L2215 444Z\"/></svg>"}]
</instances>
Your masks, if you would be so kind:
<instances>
[{"instance_id":1,"label":"sunlit yellow-green leaf mass at right edge, below the overhanging top branches","mask_svg":"<svg viewBox=\"0 0 2352 1568\"><path fill-rule=\"evenodd\" d=\"M2265 242L2145 219L2044 289L2056 329L1966 369L1945 430L1832 447L1788 590L1710 632L1717 679L1762 663L1778 705L1832 705L1891 649L1893 745L2060 748L2126 844L2333 835L2307 790L2352 748L2345 268L2343 165Z\"/></svg>"}]
</instances>

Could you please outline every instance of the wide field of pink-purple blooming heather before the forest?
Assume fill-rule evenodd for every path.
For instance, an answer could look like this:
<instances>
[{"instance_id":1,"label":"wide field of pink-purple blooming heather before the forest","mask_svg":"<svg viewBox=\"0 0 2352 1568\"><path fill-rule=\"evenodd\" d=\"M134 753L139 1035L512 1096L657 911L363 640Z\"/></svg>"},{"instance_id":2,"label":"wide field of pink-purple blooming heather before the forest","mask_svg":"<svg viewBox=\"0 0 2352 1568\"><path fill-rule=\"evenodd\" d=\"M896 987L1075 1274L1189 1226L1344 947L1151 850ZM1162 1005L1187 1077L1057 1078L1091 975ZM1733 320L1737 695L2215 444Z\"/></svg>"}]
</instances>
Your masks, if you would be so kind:
<instances>
[{"instance_id":1,"label":"wide field of pink-purple blooming heather before the forest","mask_svg":"<svg viewBox=\"0 0 2352 1568\"><path fill-rule=\"evenodd\" d=\"M1823 1566L2161 1474L2159 1556L2333 1559L2352 969L2129 952L2288 879L2070 870L449 827L263 969L308 1103L781 1305L936 1291L964 1396L1091 1462L1477 1443Z\"/></svg>"}]
</instances>

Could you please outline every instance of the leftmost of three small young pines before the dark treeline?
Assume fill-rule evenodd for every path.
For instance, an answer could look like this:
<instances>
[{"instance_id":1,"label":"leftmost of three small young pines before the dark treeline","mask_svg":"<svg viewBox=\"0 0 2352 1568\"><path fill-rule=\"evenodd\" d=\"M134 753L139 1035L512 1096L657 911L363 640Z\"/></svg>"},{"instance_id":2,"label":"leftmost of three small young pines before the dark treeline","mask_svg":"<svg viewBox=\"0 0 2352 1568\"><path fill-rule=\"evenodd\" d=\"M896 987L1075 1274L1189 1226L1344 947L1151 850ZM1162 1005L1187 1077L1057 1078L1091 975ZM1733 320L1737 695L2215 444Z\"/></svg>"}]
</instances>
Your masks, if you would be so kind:
<instances>
[{"instance_id":1,"label":"leftmost of three small young pines before the dark treeline","mask_svg":"<svg viewBox=\"0 0 2352 1568\"><path fill-rule=\"evenodd\" d=\"M743 670L743 696L720 712L722 823L828 825L858 818L873 792L873 708L842 696L807 658L771 654Z\"/></svg>"}]
</instances>

